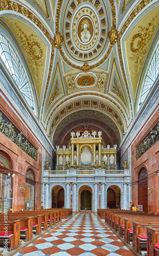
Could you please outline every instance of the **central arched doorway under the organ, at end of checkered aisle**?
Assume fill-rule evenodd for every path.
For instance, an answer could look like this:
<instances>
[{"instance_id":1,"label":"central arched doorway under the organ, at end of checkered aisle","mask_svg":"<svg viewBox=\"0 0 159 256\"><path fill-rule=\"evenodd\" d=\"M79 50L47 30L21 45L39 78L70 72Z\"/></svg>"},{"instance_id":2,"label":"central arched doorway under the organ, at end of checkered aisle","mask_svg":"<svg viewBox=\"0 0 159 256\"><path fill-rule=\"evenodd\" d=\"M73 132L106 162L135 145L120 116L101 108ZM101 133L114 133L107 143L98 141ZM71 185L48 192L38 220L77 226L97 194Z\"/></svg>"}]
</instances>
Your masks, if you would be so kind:
<instances>
[{"instance_id":1,"label":"central arched doorway under the organ, at end of checkered aisle","mask_svg":"<svg viewBox=\"0 0 159 256\"><path fill-rule=\"evenodd\" d=\"M79 190L79 209L92 210L92 189L88 186L82 186Z\"/></svg>"}]
</instances>

